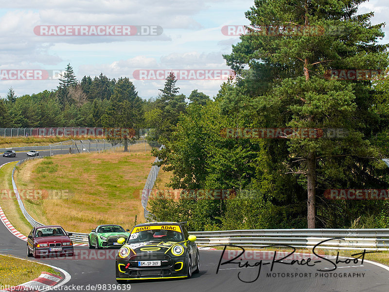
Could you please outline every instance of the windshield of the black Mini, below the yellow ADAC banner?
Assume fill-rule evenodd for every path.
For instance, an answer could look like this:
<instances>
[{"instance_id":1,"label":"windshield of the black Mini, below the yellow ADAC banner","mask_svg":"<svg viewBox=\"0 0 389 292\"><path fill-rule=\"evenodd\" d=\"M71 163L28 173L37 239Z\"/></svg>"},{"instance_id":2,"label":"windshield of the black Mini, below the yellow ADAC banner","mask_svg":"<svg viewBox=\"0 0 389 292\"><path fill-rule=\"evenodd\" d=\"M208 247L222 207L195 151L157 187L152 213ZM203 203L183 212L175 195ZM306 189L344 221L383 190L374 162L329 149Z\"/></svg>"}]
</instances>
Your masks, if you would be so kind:
<instances>
[{"instance_id":1,"label":"windshield of the black Mini, below the yellow ADAC banner","mask_svg":"<svg viewBox=\"0 0 389 292\"><path fill-rule=\"evenodd\" d=\"M127 243L136 243L144 241L183 241L183 235L180 231L152 229L134 232L128 238Z\"/></svg>"}]
</instances>

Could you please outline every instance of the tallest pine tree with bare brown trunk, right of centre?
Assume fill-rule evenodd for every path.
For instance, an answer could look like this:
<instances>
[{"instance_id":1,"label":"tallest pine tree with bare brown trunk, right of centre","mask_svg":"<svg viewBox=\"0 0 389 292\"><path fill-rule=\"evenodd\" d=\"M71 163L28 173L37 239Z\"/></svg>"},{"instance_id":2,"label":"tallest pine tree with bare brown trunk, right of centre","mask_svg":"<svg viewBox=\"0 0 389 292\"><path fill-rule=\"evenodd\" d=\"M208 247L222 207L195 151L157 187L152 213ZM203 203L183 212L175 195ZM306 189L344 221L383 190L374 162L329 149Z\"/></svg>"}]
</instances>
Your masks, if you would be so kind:
<instances>
[{"instance_id":1,"label":"tallest pine tree with bare brown trunk, right of centre","mask_svg":"<svg viewBox=\"0 0 389 292\"><path fill-rule=\"evenodd\" d=\"M371 111L371 82L324 78L326 70L388 66L388 46L377 43L383 24L371 25L372 13L356 14L363 2L255 1L246 13L253 28L224 56L238 72L237 88L224 96L225 111L240 112L248 125L260 128L343 128L349 133L344 139L268 141L269 153L278 154L274 165L280 177L289 173L305 182L308 228L316 227L316 219L326 221L326 211L317 214L318 189L385 185L370 179L379 158L369 142L369 127L379 119ZM291 25L321 26L324 33L261 32L263 26Z\"/></svg>"}]
</instances>

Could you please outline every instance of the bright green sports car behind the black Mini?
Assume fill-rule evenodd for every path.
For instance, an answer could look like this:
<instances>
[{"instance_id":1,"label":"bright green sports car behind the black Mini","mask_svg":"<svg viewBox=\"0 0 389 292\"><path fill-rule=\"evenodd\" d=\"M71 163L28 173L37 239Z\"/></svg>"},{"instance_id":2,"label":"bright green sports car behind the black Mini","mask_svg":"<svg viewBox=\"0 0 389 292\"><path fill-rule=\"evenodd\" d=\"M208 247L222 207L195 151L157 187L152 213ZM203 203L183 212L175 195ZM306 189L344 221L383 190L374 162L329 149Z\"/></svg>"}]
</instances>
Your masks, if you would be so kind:
<instances>
[{"instance_id":1,"label":"bright green sports car behind the black Mini","mask_svg":"<svg viewBox=\"0 0 389 292\"><path fill-rule=\"evenodd\" d=\"M130 231L127 229L127 231ZM120 225L99 225L93 229L88 236L89 248L103 247L121 247L123 244L118 243L118 239L124 237L127 239L130 236L128 232Z\"/></svg>"}]
</instances>

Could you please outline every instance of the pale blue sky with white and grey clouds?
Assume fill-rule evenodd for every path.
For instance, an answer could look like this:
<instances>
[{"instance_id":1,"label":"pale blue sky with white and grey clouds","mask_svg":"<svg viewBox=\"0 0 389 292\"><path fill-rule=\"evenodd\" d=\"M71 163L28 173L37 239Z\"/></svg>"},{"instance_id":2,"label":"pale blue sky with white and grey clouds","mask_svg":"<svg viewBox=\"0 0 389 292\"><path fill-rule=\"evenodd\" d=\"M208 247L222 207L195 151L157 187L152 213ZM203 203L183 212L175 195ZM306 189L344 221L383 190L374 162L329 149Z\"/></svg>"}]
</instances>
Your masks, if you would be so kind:
<instances>
[{"instance_id":1,"label":"pale blue sky with white and grey clouds","mask_svg":"<svg viewBox=\"0 0 389 292\"><path fill-rule=\"evenodd\" d=\"M239 37L223 34L222 28L228 25L248 25L244 13L253 2L0 0L0 70L1 74L7 74L0 75L0 96L4 98L11 86L18 96L55 89L58 85L55 72L65 69L70 63L79 80L84 75L93 78L101 72L111 79L126 76L134 83L142 98L155 97L158 88L163 88L164 80L139 80L134 71L186 69L212 72L229 69L222 54L230 53L231 45L237 43ZM373 24L385 22L389 15L389 2L370 0L360 6L360 13L369 11L375 12ZM92 33L91 27L112 28L113 25L137 26L131 27L132 33L140 32L140 26L144 26L145 34L148 29L155 30L157 27L158 33L53 35L52 31L52 35L40 35L43 34L40 31L49 31L54 26L69 27L72 31L68 34L74 34L77 26L88 26L88 32ZM384 31L389 33L388 25ZM55 32L63 31L55 27ZM110 34L109 31L106 34ZM389 37L386 36L382 42L389 42ZM5 76L11 79L11 71L7 70L18 70L19 74L27 70L24 76L29 74L28 70L47 70L49 79L4 80ZM32 72L29 76L34 76ZM150 72L147 76L151 76ZM204 74L197 76L202 78ZM187 96L193 89L198 89L213 97L223 80L218 75L210 76L215 77L214 80L179 80L177 86L180 87L180 93Z\"/></svg>"}]
</instances>

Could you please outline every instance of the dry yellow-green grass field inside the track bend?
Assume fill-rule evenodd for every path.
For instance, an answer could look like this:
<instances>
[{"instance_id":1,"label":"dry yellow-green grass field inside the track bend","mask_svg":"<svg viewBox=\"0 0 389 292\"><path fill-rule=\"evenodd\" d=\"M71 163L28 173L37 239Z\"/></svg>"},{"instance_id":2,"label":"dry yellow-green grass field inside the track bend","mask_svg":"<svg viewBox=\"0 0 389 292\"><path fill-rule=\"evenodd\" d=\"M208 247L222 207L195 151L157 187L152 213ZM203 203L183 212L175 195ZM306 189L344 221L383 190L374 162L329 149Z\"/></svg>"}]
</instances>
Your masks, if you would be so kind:
<instances>
[{"instance_id":1,"label":"dry yellow-green grass field inside the track bend","mask_svg":"<svg viewBox=\"0 0 389 292\"><path fill-rule=\"evenodd\" d=\"M140 194L154 159L149 152L56 155L22 164L15 178L34 194L21 197L41 223L86 233L99 224L130 228L135 215L144 222Z\"/></svg>"}]
</instances>

